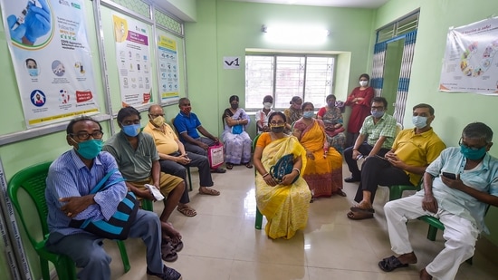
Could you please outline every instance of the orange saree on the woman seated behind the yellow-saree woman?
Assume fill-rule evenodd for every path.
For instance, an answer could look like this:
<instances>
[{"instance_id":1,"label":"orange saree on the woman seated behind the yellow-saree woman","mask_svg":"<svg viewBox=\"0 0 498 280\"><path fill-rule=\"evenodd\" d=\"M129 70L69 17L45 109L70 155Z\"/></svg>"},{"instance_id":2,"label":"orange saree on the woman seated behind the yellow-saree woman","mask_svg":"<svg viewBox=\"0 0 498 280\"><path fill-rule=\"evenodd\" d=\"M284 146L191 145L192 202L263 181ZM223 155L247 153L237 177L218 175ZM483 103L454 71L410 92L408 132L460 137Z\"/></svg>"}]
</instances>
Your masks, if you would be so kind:
<instances>
[{"instance_id":1,"label":"orange saree on the woman seated behind the yellow-saree woman","mask_svg":"<svg viewBox=\"0 0 498 280\"><path fill-rule=\"evenodd\" d=\"M298 126L296 123L294 127ZM330 197L333 192L342 188L342 156L330 147L327 157L323 158L323 147L327 138L320 121L313 120L312 125L303 128L301 143L306 150L311 150L315 157L308 159L302 177L310 186L313 197Z\"/></svg>"}]
</instances>

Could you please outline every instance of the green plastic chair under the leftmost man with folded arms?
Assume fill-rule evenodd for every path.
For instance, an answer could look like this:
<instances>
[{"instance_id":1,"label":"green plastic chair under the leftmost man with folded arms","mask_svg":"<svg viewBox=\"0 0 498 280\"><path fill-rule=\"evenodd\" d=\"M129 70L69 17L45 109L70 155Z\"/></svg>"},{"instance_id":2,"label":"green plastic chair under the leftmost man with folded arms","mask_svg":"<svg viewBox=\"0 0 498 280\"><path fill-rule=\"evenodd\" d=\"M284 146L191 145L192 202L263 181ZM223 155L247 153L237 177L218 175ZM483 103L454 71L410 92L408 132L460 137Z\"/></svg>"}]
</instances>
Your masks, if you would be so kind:
<instances>
[{"instance_id":1,"label":"green plastic chair under the leftmost man with folded arms","mask_svg":"<svg viewBox=\"0 0 498 280\"><path fill-rule=\"evenodd\" d=\"M45 242L49 237L49 229L47 224L48 207L45 200L45 179L48 174L48 169L51 162L44 162L35 164L34 166L25 168L17 172L12 179L8 182L7 192L9 198L12 200L14 208L21 218L21 222L24 227L24 231L34 247L34 250L40 257L40 266L42 269L43 280L50 280L50 268L48 262L52 262L55 266L57 276L59 279L72 280L76 279L76 266L69 256L59 255L49 252L45 248ZM18 192L20 189L28 194L32 199L32 203L20 203L18 198ZM23 214L23 209L27 207L34 207L38 213L38 219L41 225L41 231L35 230L35 228L27 227L26 221L31 220L34 217L25 217ZM120 248L120 254L123 261L123 266L125 273L129 271L129 259L126 252L126 247L124 243L120 240L116 241Z\"/></svg>"}]
</instances>

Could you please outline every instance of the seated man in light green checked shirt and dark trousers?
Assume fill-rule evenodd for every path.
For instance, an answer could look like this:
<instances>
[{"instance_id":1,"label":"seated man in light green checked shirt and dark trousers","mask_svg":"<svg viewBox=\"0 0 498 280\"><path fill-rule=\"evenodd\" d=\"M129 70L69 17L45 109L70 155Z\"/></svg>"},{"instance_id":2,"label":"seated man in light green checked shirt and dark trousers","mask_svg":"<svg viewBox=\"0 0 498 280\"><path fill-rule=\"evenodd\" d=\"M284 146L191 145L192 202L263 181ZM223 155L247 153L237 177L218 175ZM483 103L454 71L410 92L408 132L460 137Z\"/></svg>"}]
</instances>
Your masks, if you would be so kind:
<instances>
[{"instance_id":1,"label":"seated man in light green checked shirt and dark trousers","mask_svg":"<svg viewBox=\"0 0 498 280\"><path fill-rule=\"evenodd\" d=\"M344 150L344 159L351 172L351 176L344 179L348 183L361 179L356 162L358 159L374 155L383 157L391 149L396 137L396 120L386 113L388 101L384 97L374 97L370 110L371 115L363 121L355 144Z\"/></svg>"}]
</instances>

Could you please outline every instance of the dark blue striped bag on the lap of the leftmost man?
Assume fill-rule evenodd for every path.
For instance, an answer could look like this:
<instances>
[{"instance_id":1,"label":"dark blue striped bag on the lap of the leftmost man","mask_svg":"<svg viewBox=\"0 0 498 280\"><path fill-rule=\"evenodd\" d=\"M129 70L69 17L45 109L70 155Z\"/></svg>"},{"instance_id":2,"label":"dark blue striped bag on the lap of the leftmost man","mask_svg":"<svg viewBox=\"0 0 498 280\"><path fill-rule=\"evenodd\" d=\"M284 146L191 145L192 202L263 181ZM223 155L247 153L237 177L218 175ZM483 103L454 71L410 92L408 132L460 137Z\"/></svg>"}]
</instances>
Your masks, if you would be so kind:
<instances>
[{"instance_id":1,"label":"dark blue striped bag on the lap of the leftmost man","mask_svg":"<svg viewBox=\"0 0 498 280\"><path fill-rule=\"evenodd\" d=\"M101 190L109 188L110 186L123 181L123 178L110 182L105 188L102 188L104 183L114 174L118 169L110 170L101 181L91 189L90 194L95 194ZM129 229L137 217L139 210L139 202L137 197L131 191L126 194L126 197L121 200L116 212L110 217L109 220L91 220L90 218L84 220L72 219L69 223L70 227L84 229L96 236L105 237L109 239L124 240L128 238Z\"/></svg>"}]
</instances>

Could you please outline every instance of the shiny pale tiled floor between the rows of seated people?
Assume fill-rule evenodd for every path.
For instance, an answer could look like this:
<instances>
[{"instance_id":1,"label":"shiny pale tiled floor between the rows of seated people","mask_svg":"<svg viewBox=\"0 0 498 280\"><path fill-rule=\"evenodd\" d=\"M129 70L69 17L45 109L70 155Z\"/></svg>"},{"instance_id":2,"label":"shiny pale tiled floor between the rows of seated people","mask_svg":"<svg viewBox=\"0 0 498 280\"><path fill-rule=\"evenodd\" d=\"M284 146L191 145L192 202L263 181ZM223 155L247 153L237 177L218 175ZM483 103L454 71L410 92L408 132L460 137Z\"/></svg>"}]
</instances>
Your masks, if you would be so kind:
<instances>
[{"instance_id":1,"label":"shiny pale tiled floor between the rows of seated people","mask_svg":"<svg viewBox=\"0 0 498 280\"><path fill-rule=\"evenodd\" d=\"M348 177L347 168L344 176ZM197 173L192 173L198 186ZM352 221L346 217L357 184L345 183L347 198L320 198L311 204L308 227L291 240L271 240L264 230L254 229L254 169L235 166L225 174L214 174L219 197L190 192L196 217L174 211L170 221L181 232L185 244L174 267L184 280L287 280L287 279L418 279L443 247L438 233L436 242L426 239L427 225L411 221L408 227L418 264L384 273L378 261L392 255L382 206L388 188L379 188L374 219ZM161 203L155 203L160 213ZM264 227L265 221L263 221ZM112 278L120 280L157 279L147 277L145 247L140 240L126 241L131 270L123 274L122 263L113 242L106 248L113 258ZM456 279L498 279L495 264L479 251L474 265L464 263Z\"/></svg>"}]
</instances>

